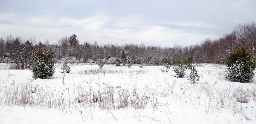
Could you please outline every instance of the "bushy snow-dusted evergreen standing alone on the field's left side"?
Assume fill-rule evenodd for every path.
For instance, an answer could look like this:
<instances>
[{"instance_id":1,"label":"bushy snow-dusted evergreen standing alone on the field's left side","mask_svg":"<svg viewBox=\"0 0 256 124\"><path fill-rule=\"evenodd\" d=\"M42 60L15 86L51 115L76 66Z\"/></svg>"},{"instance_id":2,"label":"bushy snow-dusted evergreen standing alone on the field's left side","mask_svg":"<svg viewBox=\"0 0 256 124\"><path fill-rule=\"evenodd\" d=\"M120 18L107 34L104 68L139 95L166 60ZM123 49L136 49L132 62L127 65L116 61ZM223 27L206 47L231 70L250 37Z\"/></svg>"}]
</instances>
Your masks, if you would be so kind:
<instances>
[{"instance_id":1,"label":"bushy snow-dusted evergreen standing alone on the field's left side","mask_svg":"<svg viewBox=\"0 0 256 124\"><path fill-rule=\"evenodd\" d=\"M55 63L55 58L50 50L42 51L38 48L32 54L29 69L31 69L33 73L33 78L47 79L53 76Z\"/></svg>"}]
</instances>

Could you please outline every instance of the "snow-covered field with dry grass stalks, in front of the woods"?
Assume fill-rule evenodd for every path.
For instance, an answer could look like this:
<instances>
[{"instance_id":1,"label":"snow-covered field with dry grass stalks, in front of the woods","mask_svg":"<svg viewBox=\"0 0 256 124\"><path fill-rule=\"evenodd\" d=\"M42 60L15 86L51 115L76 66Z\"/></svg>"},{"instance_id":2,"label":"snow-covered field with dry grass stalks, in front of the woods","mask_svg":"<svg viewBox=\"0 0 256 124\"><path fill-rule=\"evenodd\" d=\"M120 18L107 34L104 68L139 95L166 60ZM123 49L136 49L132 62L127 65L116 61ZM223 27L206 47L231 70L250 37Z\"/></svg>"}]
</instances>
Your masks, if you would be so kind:
<instances>
[{"instance_id":1,"label":"snow-covered field with dry grass stalks, in front of the woods","mask_svg":"<svg viewBox=\"0 0 256 124\"><path fill-rule=\"evenodd\" d=\"M256 124L256 78L226 81L223 65L197 65L196 84L163 66L56 66L34 80L0 64L0 124Z\"/></svg>"}]
</instances>

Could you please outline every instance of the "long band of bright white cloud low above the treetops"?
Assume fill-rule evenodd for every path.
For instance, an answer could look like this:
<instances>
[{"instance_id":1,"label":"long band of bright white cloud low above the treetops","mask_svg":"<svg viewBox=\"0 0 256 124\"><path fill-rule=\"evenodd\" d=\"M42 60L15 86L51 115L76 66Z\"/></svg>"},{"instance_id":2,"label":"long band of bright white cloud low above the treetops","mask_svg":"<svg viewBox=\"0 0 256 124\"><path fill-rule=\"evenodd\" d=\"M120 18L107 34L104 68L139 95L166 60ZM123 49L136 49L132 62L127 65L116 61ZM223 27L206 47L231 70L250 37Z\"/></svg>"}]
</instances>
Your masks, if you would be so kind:
<instances>
[{"instance_id":1,"label":"long band of bright white cloud low above the treetops","mask_svg":"<svg viewBox=\"0 0 256 124\"><path fill-rule=\"evenodd\" d=\"M118 21L120 22L116 23ZM105 15L95 15L84 19L31 17L19 22L18 24L0 23L2 29L0 30L0 37L3 35L34 36L38 40L52 39L57 41L65 35L76 34L80 43L97 40L98 43L145 43L147 45L153 43L159 46L172 46L175 43L194 44L209 36L218 37L215 35L185 33L182 30L173 30L164 26L145 25L142 20L133 17L126 17L126 19L123 17L113 19ZM114 27L104 28L103 26L107 23L114 24Z\"/></svg>"}]
</instances>

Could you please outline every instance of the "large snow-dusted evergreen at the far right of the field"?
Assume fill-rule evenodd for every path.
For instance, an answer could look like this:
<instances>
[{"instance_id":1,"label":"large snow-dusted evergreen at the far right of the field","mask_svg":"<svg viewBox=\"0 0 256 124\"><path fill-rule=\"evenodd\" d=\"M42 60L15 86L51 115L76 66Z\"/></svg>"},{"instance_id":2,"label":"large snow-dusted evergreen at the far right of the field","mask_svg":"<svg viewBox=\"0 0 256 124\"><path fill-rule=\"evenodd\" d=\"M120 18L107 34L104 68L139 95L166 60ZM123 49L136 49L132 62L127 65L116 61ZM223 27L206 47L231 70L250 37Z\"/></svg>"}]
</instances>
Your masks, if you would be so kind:
<instances>
[{"instance_id":1,"label":"large snow-dusted evergreen at the far right of the field","mask_svg":"<svg viewBox=\"0 0 256 124\"><path fill-rule=\"evenodd\" d=\"M252 54L240 46L236 52L226 56L226 79L235 82L250 82L253 78L255 63Z\"/></svg>"}]
</instances>

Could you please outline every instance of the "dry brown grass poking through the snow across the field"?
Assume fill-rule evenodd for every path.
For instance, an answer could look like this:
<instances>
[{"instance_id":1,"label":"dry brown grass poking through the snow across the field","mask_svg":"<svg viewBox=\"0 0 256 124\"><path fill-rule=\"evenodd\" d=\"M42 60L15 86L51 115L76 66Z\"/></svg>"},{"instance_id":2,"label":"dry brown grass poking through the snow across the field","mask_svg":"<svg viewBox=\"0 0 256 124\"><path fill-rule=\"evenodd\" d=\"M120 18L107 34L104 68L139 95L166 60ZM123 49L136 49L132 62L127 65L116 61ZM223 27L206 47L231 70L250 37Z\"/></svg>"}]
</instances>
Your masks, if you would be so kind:
<instances>
[{"instance_id":1,"label":"dry brown grass poking through the snow across the field","mask_svg":"<svg viewBox=\"0 0 256 124\"><path fill-rule=\"evenodd\" d=\"M159 69L157 71L162 73ZM147 74L148 70L103 68L86 69L77 73L84 75L140 75ZM81 82L77 85L71 83L69 86L67 82L64 89L54 89L46 84L38 86L32 82L15 85L0 82L0 105L55 108L63 113L84 108L90 113L90 108L102 110L133 108L138 110L150 107L157 110L169 104L170 99L172 99L187 109L190 109L191 105L195 108L204 107L206 114L220 113L223 109L229 109L234 113L240 112L247 118L244 103L256 100L255 86L250 89L237 87L233 84L223 86L220 85L222 82L219 81L224 78L223 72L201 70L201 73L217 77L218 80L211 79L215 80L215 83L201 81L198 84L189 84L176 81L175 78L165 82L153 82L156 84L154 87L143 84L139 88L137 86L115 86L108 83L92 85L91 82L93 81ZM165 100L159 102L158 99L160 98ZM93 118L92 114L90 116Z\"/></svg>"}]
</instances>

